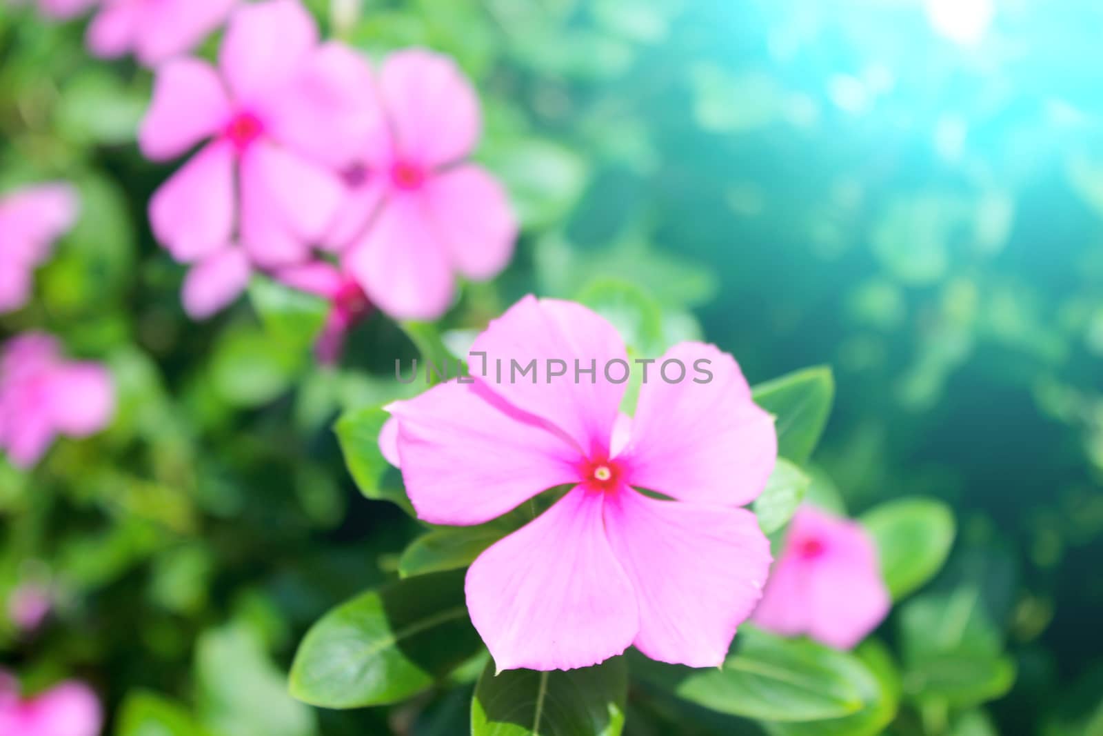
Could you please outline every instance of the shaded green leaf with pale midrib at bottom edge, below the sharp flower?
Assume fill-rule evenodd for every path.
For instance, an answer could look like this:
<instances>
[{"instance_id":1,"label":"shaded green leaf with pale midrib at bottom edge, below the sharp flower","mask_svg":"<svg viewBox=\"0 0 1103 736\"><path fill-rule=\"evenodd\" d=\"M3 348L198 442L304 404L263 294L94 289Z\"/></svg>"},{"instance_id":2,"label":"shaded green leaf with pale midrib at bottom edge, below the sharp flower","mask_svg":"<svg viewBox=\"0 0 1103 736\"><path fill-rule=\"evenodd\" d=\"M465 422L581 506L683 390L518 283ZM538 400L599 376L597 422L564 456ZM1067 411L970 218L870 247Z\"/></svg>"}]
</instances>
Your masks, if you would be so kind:
<instances>
[{"instance_id":1,"label":"shaded green leaf with pale midrib at bottom edge, below the sharp flower","mask_svg":"<svg viewBox=\"0 0 1103 736\"><path fill-rule=\"evenodd\" d=\"M617 736L624 728L623 657L566 672L486 665L471 702L471 736Z\"/></svg>"}]
</instances>

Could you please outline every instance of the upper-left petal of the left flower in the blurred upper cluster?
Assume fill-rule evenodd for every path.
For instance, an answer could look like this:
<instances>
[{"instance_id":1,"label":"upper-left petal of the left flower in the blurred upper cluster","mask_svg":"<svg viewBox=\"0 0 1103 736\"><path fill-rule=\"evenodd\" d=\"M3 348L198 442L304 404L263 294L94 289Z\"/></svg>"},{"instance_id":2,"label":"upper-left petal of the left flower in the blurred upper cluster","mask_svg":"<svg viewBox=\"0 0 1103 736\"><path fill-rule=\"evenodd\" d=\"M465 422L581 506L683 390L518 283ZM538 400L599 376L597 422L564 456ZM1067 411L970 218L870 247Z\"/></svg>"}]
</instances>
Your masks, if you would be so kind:
<instances>
[{"instance_id":1,"label":"upper-left petal of the left flower in the blurred upper cluster","mask_svg":"<svg viewBox=\"0 0 1103 736\"><path fill-rule=\"evenodd\" d=\"M100 15L108 12L114 11ZM138 145L154 161L175 158L218 132L229 117L229 100L214 67L197 58L179 58L157 71Z\"/></svg>"}]
</instances>

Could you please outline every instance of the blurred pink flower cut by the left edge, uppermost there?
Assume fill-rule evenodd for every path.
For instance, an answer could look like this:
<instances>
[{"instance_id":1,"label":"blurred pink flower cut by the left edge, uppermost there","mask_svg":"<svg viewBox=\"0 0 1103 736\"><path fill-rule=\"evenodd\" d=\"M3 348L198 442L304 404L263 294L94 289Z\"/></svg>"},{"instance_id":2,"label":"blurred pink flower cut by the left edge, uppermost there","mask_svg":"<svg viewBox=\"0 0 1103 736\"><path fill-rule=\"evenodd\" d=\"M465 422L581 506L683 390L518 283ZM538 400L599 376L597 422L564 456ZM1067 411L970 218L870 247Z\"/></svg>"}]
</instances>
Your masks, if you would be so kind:
<instances>
[{"instance_id":1,"label":"blurred pink flower cut by the left edge, uppermost there","mask_svg":"<svg viewBox=\"0 0 1103 736\"><path fill-rule=\"evenodd\" d=\"M79 203L67 184L44 184L0 199L0 312L26 303L34 268L76 221Z\"/></svg>"}]
</instances>

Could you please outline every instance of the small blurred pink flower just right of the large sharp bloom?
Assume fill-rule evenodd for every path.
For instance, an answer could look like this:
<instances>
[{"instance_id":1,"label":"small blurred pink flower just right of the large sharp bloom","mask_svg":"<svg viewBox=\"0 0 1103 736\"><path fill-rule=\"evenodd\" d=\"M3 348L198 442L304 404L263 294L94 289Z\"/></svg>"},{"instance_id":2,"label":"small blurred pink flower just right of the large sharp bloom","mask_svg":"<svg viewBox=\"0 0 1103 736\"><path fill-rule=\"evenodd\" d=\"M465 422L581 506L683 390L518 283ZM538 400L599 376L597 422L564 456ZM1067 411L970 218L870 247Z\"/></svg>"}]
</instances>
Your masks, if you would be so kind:
<instances>
[{"instance_id":1,"label":"small blurred pink flower just right of the large sharp bloom","mask_svg":"<svg viewBox=\"0 0 1103 736\"><path fill-rule=\"evenodd\" d=\"M806 633L850 649L877 628L890 605L866 531L805 505L793 516L754 622L783 636Z\"/></svg>"}]
</instances>

